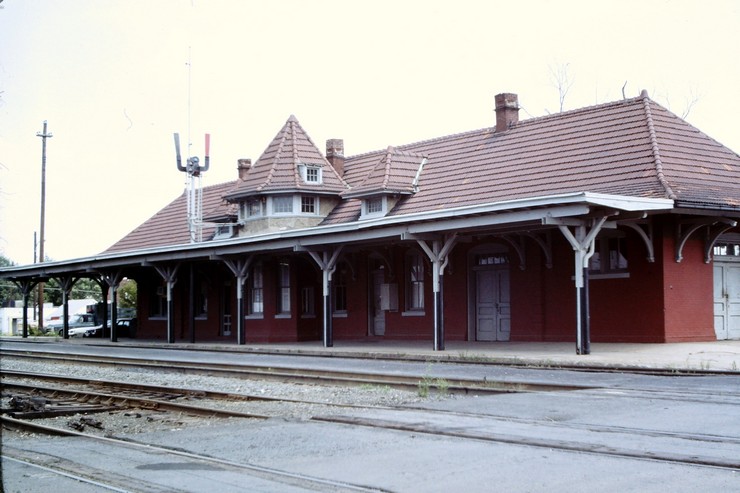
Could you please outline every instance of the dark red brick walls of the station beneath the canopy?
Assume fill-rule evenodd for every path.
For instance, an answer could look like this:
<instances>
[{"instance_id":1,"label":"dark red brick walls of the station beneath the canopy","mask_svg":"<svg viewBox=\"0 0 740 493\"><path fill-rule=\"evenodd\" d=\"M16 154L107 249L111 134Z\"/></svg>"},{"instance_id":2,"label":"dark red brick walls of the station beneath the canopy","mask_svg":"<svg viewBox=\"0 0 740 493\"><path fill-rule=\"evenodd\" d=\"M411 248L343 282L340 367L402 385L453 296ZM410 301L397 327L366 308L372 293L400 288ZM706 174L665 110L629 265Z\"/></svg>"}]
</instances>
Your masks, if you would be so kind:
<instances>
[{"instance_id":1,"label":"dark red brick walls of the station beneath the canopy","mask_svg":"<svg viewBox=\"0 0 740 493\"><path fill-rule=\"evenodd\" d=\"M669 218L670 219L670 218ZM656 221L655 262L647 261L642 239L625 229L629 277L591 279L591 340L593 342L674 342L705 341L715 338L712 313L712 265L703 259L703 237L695 233L684 248L684 259L675 262L675 225L673 220ZM519 258L509 248L511 260L511 340L512 341L575 341L576 291L573 280L574 253L559 231L551 232L552 268L545 266L542 249L525 238L526 268L519 267ZM486 240L490 243L492 240ZM448 341L463 341L469 333L468 256L472 248L484 244L461 242L452 251L443 276L444 326ZM505 243L501 243L506 245ZM385 282L398 284L396 311L386 312L385 339L431 341L433 339L433 292L431 264L427 263L425 279L425 312L422 316L404 315L405 254L413 243L388 245L377 250L367 249L348 254L351 262L347 283L347 317L334 317L337 340L361 339L368 335L370 255L381 253L390 263L385 269ZM276 318L277 257L263 258L265 313L262 319L245 321L249 342L290 342L320 340L323 332L323 300L321 271L303 254L282 257L291 264L292 312L289 317ZM384 261L385 262L385 261ZM341 268L341 266L340 266ZM204 262L196 266L209 284L208 317L196 320L196 341L236 342L236 281L219 262ZM137 273L139 285L139 328L137 337L166 340L166 320L149 319L149 292L160 285L153 270ZM175 285L175 336L189 340L189 270L183 267ZM232 333L219 336L221 316L220 296L224 283L232 285ZM315 316L301 317L301 288L313 286ZM245 289L246 297L246 289Z\"/></svg>"}]
</instances>

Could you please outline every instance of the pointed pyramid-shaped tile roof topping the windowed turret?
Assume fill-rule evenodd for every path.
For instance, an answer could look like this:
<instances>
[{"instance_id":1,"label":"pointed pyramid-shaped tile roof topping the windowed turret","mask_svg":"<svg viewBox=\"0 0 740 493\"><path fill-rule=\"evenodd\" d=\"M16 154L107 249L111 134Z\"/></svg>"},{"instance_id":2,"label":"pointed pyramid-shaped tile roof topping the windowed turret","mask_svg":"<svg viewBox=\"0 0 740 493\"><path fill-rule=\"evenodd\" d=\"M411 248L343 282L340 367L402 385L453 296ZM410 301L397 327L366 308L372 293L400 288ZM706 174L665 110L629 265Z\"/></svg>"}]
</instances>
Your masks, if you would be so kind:
<instances>
[{"instance_id":1,"label":"pointed pyramid-shaped tile roof topping the windowed turret","mask_svg":"<svg viewBox=\"0 0 740 493\"><path fill-rule=\"evenodd\" d=\"M306 183L299 164L320 166L322 182ZM314 145L295 116L291 115L265 152L247 171L228 200L265 193L306 191L339 194L348 186Z\"/></svg>"}]
</instances>

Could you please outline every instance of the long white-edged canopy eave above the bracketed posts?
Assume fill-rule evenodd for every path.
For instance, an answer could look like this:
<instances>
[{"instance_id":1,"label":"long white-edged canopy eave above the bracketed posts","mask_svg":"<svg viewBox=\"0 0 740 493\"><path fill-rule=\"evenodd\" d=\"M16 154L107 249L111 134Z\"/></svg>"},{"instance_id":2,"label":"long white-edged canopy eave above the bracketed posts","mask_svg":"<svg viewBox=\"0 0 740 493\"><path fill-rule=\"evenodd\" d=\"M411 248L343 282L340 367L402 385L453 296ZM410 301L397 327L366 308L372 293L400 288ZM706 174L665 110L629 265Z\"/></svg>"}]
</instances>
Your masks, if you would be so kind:
<instances>
[{"instance_id":1,"label":"long white-edged canopy eave above the bracketed posts","mask_svg":"<svg viewBox=\"0 0 740 493\"><path fill-rule=\"evenodd\" d=\"M667 212L673 205L674 201L670 199L576 192L15 266L0 270L0 278L84 275L123 267L208 260L249 252L292 251L300 246L320 247L339 242L361 243L400 238L409 234L486 231L505 226L513 227L517 224L541 224L548 217L583 217L599 210Z\"/></svg>"}]
</instances>

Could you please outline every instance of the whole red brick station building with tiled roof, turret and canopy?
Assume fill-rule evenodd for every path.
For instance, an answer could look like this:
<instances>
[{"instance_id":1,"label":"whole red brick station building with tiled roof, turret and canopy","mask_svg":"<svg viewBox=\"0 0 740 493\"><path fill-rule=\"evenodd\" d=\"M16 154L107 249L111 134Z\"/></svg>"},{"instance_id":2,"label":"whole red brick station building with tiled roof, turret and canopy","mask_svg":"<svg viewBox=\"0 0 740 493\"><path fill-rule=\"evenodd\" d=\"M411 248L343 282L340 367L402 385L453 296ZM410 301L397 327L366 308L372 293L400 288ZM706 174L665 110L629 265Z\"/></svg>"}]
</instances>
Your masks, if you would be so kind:
<instances>
[{"instance_id":1,"label":"whole red brick station building with tiled roof, turret and canopy","mask_svg":"<svg viewBox=\"0 0 740 493\"><path fill-rule=\"evenodd\" d=\"M136 337L170 343L740 339L740 156L644 91L518 113L499 94L491 127L357 156L291 116L195 189L202 220L186 190L99 255L0 277L134 279Z\"/></svg>"}]
</instances>

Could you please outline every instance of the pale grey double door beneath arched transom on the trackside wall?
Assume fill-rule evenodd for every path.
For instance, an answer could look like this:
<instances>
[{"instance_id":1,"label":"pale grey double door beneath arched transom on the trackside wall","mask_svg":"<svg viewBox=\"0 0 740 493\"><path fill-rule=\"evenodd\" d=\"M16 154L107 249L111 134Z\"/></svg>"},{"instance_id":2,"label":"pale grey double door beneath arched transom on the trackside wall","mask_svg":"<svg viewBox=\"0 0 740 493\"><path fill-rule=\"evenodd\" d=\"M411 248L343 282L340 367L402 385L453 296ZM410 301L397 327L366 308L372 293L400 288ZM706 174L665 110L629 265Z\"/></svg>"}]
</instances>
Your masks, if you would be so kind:
<instances>
[{"instance_id":1,"label":"pale grey double door beneath arched transom on the trackside wall","mask_svg":"<svg viewBox=\"0 0 740 493\"><path fill-rule=\"evenodd\" d=\"M476 270L476 339L508 341L511 336L509 270Z\"/></svg>"}]
</instances>

